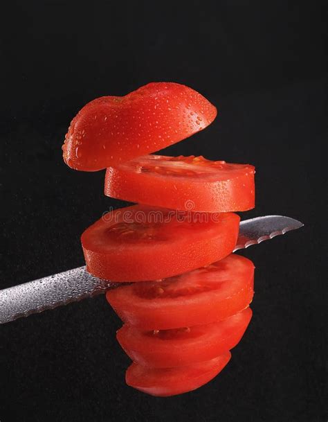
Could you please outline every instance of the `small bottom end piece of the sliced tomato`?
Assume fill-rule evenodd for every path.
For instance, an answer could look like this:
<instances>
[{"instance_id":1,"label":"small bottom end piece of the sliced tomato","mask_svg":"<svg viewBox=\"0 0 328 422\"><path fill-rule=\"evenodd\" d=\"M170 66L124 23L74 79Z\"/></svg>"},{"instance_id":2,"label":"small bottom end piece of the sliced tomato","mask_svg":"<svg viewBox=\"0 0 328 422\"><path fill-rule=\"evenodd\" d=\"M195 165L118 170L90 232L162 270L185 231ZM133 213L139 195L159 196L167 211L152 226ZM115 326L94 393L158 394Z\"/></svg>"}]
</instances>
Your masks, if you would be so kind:
<instances>
[{"instance_id":1,"label":"small bottom end piece of the sliced tomato","mask_svg":"<svg viewBox=\"0 0 328 422\"><path fill-rule=\"evenodd\" d=\"M149 368L133 363L127 369L125 381L130 387L152 396L175 396L208 383L224 369L230 358L230 352L226 352L212 360L179 368Z\"/></svg>"}]
</instances>

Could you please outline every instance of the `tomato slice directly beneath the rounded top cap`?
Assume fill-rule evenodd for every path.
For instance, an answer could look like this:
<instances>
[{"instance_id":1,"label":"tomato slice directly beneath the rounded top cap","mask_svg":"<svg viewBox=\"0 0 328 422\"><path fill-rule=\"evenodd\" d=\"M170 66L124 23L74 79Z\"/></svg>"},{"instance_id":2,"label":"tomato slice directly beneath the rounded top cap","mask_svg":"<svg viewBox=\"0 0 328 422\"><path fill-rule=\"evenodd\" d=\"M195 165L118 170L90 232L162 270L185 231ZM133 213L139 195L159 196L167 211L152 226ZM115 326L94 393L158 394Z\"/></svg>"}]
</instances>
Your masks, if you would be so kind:
<instances>
[{"instance_id":1,"label":"tomato slice directly beneath the rounded top cap","mask_svg":"<svg viewBox=\"0 0 328 422\"><path fill-rule=\"evenodd\" d=\"M255 204L254 173L249 164L145 155L107 168L104 194L172 209L246 211Z\"/></svg>"}]
</instances>

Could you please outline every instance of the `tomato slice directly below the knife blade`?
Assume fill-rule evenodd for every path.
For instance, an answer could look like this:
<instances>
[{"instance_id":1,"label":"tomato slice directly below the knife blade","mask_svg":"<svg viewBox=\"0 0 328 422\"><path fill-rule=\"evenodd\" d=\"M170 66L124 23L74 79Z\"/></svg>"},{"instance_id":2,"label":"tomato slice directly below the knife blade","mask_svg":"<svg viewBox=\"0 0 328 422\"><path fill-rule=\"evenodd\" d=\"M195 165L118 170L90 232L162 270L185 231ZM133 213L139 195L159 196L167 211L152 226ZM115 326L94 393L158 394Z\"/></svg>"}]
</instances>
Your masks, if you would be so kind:
<instances>
[{"instance_id":1,"label":"tomato slice directly below the knife blade","mask_svg":"<svg viewBox=\"0 0 328 422\"><path fill-rule=\"evenodd\" d=\"M145 330L167 330L235 315L250 304L253 279L252 261L231 254L208 267L170 279L109 290L106 297L127 324Z\"/></svg>"}]
</instances>

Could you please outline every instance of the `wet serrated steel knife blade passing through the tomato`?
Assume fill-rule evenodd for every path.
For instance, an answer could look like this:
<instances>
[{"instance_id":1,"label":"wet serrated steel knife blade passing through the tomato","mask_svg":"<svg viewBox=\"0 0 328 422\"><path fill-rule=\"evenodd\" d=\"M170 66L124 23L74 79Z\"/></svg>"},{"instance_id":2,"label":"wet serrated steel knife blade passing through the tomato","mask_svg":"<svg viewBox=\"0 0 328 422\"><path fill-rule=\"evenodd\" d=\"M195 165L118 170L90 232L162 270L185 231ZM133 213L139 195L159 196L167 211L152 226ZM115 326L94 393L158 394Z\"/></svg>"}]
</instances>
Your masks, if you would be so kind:
<instances>
[{"instance_id":1,"label":"wet serrated steel knife blade passing through the tomato","mask_svg":"<svg viewBox=\"0 0 328 422\"><path fill-rule=\"evenodd\" d=\"M284 216L244 220L240 222L239 236L233 252L302 226L302 222ZM118 285L121 283L91 276L85 266L15 285L0 290L0 324L93 297Z\"/></svg>"}]
</instances>

